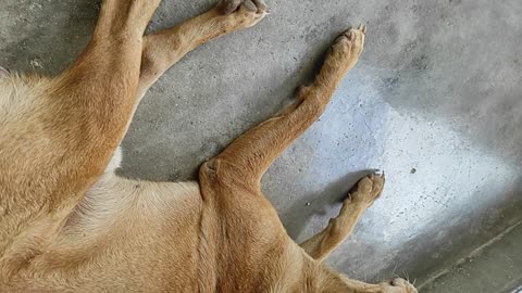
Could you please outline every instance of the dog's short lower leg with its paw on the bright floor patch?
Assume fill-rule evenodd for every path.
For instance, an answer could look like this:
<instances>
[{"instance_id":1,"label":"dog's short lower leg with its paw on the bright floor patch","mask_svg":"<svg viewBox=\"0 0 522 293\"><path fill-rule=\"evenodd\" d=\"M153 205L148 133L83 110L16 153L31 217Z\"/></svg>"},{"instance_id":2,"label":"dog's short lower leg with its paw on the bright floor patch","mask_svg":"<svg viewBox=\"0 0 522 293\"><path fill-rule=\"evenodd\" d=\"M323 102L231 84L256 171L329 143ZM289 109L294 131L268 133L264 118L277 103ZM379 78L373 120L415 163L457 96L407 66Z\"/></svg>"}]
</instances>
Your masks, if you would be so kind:
<instances>
[{"instance_id":1,"label":"dog's short lower leg with its paw on the bright floor patch","mask_svg":"<svg viewBox=\"0 0 522 293\"><path fill-rule=\"evenodd\" d=\"M383 187L384 175L372 174L359 180L343 202L339 215L332 218L323 231L304 241L300 246L314 259L326 258L348 238L364 211L380 196Z\"/></svg>"}]
</instances>

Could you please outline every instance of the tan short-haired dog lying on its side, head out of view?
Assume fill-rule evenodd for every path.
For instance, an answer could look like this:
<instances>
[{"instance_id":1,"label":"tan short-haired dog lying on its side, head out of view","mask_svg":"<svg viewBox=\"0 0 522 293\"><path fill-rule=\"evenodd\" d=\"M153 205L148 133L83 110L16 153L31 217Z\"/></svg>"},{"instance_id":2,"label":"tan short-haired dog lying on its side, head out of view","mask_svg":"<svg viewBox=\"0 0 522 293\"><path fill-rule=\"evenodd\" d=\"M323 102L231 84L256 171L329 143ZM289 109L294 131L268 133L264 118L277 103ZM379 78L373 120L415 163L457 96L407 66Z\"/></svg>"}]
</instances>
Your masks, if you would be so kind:
<instances>
[{"instance_id":1,"label":"tan short-haired dog lying on its side, head out of view","mask_svg":"<svg viewBox=\"0 0 522 293\"><path fill-rule=\"evenodd\" d=\"M114 174L147 89L197 46L250 27L261 0L222 0L142 36L160 0L104 0L91 41L54 78L0 74L0 292L417 292L402 279L350 280L323 260L380 195L359 181L335 219L291 241L260 191L275 157L323 112L362 52L345 33L297 103L201 166L199 182Z\"/></svg>"}]
</instances>

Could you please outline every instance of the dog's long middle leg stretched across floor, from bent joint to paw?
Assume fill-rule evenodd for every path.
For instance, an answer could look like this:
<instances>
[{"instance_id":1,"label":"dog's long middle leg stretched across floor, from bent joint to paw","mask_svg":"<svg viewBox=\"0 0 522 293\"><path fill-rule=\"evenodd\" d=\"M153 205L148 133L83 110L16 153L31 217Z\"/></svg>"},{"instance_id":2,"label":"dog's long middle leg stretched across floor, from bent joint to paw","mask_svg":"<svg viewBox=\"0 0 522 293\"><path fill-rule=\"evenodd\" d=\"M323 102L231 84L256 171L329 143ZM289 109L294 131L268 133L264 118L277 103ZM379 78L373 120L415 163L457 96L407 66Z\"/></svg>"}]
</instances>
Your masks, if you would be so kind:
<instances>
[{"instance_id":1,"label":"dog's long middle leg stretched across floor, from bent joint to paw","mask_svg":"<svg viewBox=\"0 0 522 293\"><path fill-rule=\"evenodd\" d=\"M298 102L246 132L203 164L202 181L211 184L214 180L226 180L258 192L261 176L270 164L323 113L335 88L359 59L363 41L362 26L339 37L313 84L299 90Z\"/></svg>"}]
</instances>

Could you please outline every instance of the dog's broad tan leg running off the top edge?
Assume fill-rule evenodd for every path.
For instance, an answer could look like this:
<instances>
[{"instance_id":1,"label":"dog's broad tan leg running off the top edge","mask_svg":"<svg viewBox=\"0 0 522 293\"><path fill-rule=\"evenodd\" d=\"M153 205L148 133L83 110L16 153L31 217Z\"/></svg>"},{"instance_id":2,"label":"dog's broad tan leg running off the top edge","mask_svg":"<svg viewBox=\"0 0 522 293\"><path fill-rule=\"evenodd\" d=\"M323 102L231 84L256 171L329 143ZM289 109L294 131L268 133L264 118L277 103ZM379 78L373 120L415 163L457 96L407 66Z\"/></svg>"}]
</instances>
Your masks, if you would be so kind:
<instances>
[{"instance_id":1,"label":"dog's broad tan leg running off the top edge","mask_svg":"<svg viewBox=\"0 0 522 293\"><path fill-rule=\"evenodd\" d=\"M18 176L46 186L39 196L50 200L51 209L77 202L123 138L136 101L144 31L159 3L104 0L87 48L47 90L40 123L54 151L36 149L41 154L35 160L51 169Z\"/></svg>"}]
</instances>

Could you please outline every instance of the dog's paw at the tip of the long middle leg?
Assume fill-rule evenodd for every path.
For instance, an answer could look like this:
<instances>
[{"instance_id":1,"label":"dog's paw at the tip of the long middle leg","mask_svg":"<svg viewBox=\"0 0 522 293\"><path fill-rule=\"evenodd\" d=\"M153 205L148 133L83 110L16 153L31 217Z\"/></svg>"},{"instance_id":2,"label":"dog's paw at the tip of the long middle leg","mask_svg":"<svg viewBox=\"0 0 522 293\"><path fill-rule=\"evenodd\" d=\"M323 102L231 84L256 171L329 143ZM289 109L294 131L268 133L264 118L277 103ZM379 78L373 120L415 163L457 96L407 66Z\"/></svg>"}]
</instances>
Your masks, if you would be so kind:
<instances>
[{"instance_id":1,"label":"dog's paw at the tip of the long middle leg","mask_svg":"<svg viewBox=\"0 0 522 293\"><path fill-rule=\"evenodd\" d=\"M366 27L363 25L343 33L332 46L328 59L351 68L362 53L365 34Z\"/></svg>"}]
</instances>

